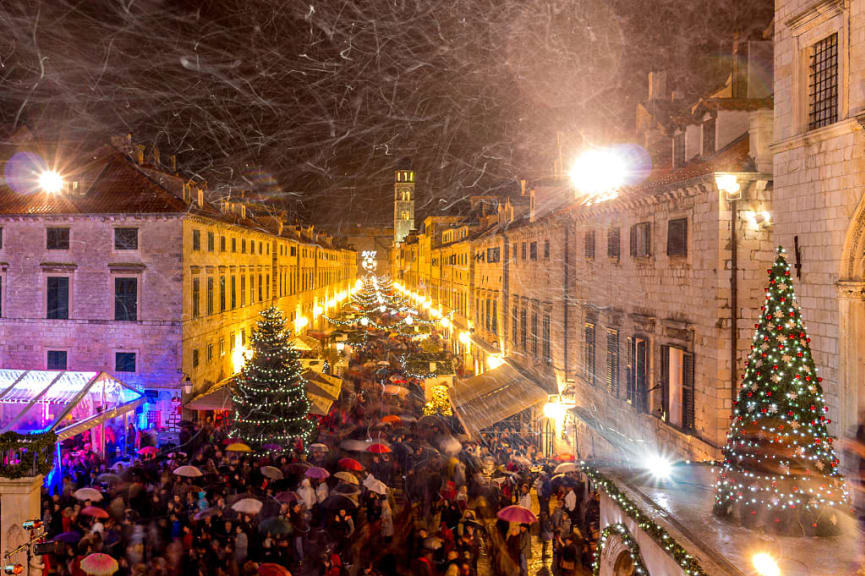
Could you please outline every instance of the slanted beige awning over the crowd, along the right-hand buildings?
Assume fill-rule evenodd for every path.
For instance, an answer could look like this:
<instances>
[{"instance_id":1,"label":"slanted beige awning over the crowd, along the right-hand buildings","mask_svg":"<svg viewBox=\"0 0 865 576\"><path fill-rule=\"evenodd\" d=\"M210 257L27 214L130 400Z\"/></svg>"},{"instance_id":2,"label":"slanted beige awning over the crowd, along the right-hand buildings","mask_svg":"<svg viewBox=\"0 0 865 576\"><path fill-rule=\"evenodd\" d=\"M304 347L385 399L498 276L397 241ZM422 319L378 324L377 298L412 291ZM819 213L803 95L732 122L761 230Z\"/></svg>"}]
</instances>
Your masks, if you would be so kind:
<instances>
[{"instance_id":1,"label":"slanted beige awning over the crowd, along the right-hand buildings","mask_svg":"<svg viewBox=\"0 0 865 576\"><path fill-rule=\"evenodd\" d=\"M545 402L547 393L510 364L458 380L448 391L454 413L470 436Z\"/></svg>"}]
</instances>

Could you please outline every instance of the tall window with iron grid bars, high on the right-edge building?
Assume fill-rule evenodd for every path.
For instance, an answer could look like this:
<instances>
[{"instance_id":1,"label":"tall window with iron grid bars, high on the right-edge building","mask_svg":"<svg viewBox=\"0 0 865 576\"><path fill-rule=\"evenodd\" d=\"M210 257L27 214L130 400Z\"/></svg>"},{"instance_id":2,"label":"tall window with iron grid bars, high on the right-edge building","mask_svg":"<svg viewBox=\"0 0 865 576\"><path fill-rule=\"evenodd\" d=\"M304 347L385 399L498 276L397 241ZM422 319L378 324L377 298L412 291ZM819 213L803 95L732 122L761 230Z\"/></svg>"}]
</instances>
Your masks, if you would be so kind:
<instances>
[{"instance_id":1,"label":"tall window with iron grid bars, high on the right-edge building","mask_svg":"<svg viewBox=\"0 0 865 576\"><path fill-rule=\"evenodd\" d=\"M838 34L811 47L808 64L808 130L838 120Z\"/></svg>"}]
</instances>

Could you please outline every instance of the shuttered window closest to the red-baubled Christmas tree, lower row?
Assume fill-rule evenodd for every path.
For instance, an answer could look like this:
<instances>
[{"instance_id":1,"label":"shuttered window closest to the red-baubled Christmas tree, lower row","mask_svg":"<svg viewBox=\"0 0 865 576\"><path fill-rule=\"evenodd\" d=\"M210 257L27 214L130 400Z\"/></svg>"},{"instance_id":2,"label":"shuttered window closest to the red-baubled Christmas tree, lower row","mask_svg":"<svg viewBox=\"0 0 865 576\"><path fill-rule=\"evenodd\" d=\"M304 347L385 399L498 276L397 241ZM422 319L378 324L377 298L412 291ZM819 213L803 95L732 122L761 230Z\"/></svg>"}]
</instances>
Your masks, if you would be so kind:
<instances>
[{"instance_id":1,"label":"shuttered window closest to the red-baubled Christmas tree, lower row","mask_svg":"<svg viewBox=\"0 0 865 576\"><path fill-rule=\"evenodd\" d=\"M694 355L661 346L661 418L685 430L694 429Z\"/></svg>"}]
</instances>

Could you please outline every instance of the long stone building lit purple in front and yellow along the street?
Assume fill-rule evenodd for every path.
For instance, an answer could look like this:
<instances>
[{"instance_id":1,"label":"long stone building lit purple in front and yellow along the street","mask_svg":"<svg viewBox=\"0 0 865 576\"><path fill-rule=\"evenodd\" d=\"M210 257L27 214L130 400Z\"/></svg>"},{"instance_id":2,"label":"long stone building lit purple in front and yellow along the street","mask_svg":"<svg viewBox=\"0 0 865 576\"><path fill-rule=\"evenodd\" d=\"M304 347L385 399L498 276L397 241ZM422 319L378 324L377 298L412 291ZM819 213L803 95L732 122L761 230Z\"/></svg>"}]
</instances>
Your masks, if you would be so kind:
<instances>
[{"instance_id":1,"label":"long stone building lit purple in front and yellow along the street","mask_svg":"<svg viewBox=\"0 0 865 576\"><path fill-rule=\"evenodd\" d=\"M147 391L142 418L164 425L237 371L264 307L311 326L352 285L355 254L243 202L211 202L158 154L115 144L54 193L32 180L38 145L4 158L0 366L115 374Z\"/></svg>"}]
</instances>

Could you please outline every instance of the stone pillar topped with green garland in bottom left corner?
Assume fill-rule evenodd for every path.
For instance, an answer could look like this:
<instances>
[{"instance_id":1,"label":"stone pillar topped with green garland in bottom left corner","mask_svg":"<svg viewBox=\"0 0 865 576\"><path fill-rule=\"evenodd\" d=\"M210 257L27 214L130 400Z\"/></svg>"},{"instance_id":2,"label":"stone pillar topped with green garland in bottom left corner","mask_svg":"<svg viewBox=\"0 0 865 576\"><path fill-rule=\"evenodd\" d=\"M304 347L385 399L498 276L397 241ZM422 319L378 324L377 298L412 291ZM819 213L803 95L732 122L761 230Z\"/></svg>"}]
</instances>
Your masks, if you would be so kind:
<instances>
[{"instance_id":1,"label":"stone pillar topped with green garland in bottom left corner","mask_svg":"<svg viewBox=\"0 0 865 576\"><path fill-rule=\"evenodd\" d=\"M27 542L29 533L22 528L28 520L42 517L40 489L43 476L24 478L0 478L0 550L3 564L27 563L26 551L21 551L6 560L6 552ZM42 576L42 563L34 556L30 563L30 576Z\"/></svg>"}]
</instances>

